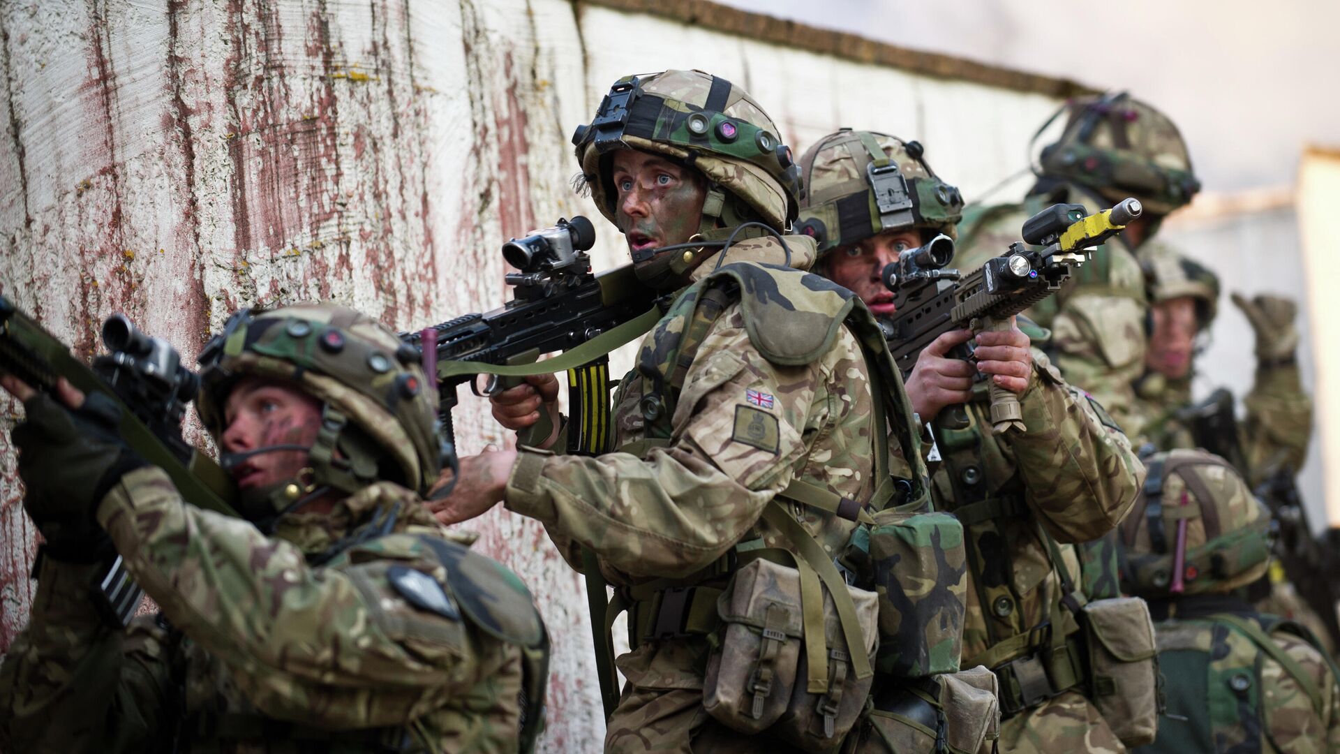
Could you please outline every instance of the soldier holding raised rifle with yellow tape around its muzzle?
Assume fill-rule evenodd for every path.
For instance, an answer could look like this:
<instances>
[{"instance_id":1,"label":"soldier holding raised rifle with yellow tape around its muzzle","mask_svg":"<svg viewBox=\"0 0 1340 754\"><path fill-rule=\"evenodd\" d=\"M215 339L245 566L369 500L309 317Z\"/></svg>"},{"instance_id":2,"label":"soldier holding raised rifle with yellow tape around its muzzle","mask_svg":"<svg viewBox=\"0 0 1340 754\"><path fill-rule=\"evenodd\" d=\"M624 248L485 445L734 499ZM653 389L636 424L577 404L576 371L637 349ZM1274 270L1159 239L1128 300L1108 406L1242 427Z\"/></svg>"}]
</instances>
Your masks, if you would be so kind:
<instances>
[{"instance_id":1,"label":"soldier holding raised rifle with yellow tape around its muzzle","mask_svg":"<svg viewBox=\"0 0 1340 754\"><path fill-rule=\"evenodd\" d=\"M921 144L874 131L829 134L800 165L796 227L817 240L817 270L891 315L880 271L937 233L954 236L958 189L930 169ZM878 207L882 176L902 181L906 207ZM959 518L969 543L963 667L985 664L1000 679L1002 751L1120 751L1088 699L1080 627L1064 605L1116 596L1115 562L1106 586L1083 578L1072 543L1116 526L1135 500L1140 464L1020 327L977 335L976 365L947 357L970 339L970 330L945 333L907 378L913 409L943 455L931 478L935 507ZM989 382L977 376L1020 394L1026 432L993 435Z\"/></svg>"}]
</instances>

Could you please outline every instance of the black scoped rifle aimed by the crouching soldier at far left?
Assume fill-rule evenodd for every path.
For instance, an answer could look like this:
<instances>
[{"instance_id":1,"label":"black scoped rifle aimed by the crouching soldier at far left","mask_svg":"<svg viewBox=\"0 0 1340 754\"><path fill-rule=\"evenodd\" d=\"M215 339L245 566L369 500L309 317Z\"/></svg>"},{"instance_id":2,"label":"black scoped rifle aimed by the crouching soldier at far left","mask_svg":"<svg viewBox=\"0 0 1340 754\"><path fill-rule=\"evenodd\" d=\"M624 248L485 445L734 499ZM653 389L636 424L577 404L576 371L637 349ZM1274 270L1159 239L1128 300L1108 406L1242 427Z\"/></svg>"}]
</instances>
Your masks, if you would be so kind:
<instances>
[{"instance_id":1,"label":"black scoped rifle aimed by the crouching soldier at far left","mask_svg":"<svg viewBox=\"0 0 1340 754\"><path fill-rule=\"evenodd\" d=\"M162 338L150 338L130 319L114 314L102 326L109 349L92 366L71 356L55 335L0 297L0 372L51 393L64 377L86 394L103 393L121 408L121 437L146 462L168 472L186 502L237 515L232 479L209 456L181 436L186 404L196 397L200 377ZM110 558L91 585L94 602L125 627L135 614L143 590L130 578L119 554Z\"/></svg>"}]
</instances>

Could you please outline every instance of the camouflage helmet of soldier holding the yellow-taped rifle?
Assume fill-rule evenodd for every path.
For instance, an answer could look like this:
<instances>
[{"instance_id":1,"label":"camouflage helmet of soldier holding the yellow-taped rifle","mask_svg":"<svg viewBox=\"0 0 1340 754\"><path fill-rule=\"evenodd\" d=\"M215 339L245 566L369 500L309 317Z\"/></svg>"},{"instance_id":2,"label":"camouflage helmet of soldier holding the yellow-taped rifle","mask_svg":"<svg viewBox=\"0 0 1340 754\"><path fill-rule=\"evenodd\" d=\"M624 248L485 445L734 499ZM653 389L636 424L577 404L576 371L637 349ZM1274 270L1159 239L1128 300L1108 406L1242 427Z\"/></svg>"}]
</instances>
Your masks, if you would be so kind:
<instances>
[{"instance_id":1,"label":"camouflage helmet of soldier holding the yellow-taped rifle","mask_svg":"<svg viewBox=\"0 0 1340 754\"><path fill-rule=\"evenodd\" d=\"M800 157L796 232L813 236L819 254L883 231L930 228L957 236L963 196L939 180L915 141L842 129Z\"/></svg>"}]
</instances>

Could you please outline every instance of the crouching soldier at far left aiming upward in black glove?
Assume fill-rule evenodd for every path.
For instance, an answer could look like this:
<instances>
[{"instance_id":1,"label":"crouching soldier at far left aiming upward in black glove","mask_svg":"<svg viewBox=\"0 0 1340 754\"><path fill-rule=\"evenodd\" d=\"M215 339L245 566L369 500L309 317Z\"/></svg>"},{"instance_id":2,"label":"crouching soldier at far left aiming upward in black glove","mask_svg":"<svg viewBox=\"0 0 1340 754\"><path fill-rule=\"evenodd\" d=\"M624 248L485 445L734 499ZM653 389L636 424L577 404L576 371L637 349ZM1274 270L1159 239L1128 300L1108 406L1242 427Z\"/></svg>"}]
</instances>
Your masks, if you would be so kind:
<instances>
[{"instance_id":1,"label":"crouching soldier at far left aiming upward in black glove","mask_svg":"<svg viewBox=\"0 0 1340 754\"><path fill-rule=\"evenodd\" d=\"M102 394L3 378L47 537L0 668L5 751L533 749L544 627L515 576L423 507L437 396L398 346L328 305L240 311L206 345L197 408L247 521L185 504ZM158 616L95 609L103 546Z\"/></svg>"}]
</instances>

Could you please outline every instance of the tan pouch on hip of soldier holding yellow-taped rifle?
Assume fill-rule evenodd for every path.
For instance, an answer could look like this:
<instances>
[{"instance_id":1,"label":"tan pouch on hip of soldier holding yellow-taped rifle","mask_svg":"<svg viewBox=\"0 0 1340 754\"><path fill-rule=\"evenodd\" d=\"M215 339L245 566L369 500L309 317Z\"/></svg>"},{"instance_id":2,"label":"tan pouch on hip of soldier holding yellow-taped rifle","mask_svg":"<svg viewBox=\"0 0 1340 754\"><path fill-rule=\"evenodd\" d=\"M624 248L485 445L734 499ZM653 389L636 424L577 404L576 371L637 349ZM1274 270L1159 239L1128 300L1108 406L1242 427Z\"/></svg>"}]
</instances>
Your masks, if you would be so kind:
<instances>
[{"instance_id":1,"label":"tan pouch on hip of soldier holding yellow-taped rifle","mask_svg":"<svg viewBox=\"0 0 1340 754\"><path fill-rule=\"evenodd\" d=\"M1089 656L1089 699L1122 743L1152 743L1163 703L1150 606L1139 597L1095 600L1080 616Z\"/></svg>"}]
</instances>

